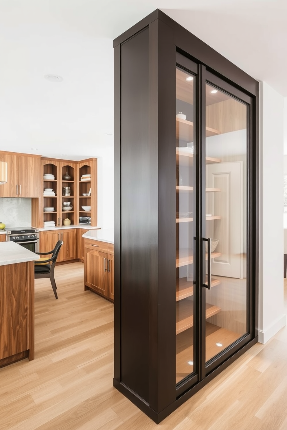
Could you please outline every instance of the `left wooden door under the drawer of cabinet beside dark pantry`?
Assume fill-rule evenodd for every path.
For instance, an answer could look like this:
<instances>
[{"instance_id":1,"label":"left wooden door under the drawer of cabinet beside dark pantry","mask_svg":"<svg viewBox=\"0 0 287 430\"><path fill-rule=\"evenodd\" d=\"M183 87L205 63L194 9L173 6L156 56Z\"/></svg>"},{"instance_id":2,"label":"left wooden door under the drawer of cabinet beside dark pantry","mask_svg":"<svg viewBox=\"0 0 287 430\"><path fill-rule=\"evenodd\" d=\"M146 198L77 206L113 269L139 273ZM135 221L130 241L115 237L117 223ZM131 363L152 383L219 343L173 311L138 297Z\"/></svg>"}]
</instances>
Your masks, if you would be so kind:
<instances>
[{"instance_id":1,"label":"left wooden door under the drawer of cabinet beside dark pantry","mask_svg":"<svg viewBox=\"0 0 287 430\"><path fill-rule=\"evenodd\" d=\"M85 286L108 296L108 254L85 247Z\"/></svg>"}]
</instances>

